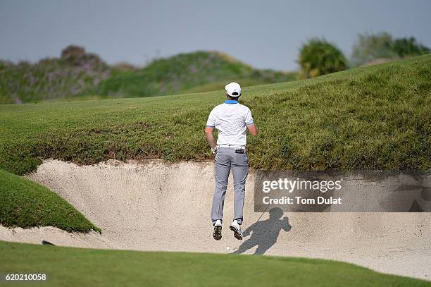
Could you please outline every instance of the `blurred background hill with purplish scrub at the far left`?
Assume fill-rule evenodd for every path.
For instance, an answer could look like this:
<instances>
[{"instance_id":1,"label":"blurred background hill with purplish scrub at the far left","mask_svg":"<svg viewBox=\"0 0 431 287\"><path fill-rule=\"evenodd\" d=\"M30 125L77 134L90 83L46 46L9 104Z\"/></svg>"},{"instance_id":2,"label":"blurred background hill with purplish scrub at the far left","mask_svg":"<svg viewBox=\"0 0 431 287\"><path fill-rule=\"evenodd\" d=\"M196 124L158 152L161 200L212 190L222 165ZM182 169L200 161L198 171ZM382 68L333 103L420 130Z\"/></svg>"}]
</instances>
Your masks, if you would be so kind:
<instances>
[{"instance_id":1,"label":"blurred background hill with purplish scrub at the far left","mask_svg":"<svg viewBox=\"0 0 431 287\"><path fill-rule=\"evenodd\" d=\"M0 61L0 104L77 97L110 75L111 68L94 54L35 64Z\"/></svg>"}]
</instances>

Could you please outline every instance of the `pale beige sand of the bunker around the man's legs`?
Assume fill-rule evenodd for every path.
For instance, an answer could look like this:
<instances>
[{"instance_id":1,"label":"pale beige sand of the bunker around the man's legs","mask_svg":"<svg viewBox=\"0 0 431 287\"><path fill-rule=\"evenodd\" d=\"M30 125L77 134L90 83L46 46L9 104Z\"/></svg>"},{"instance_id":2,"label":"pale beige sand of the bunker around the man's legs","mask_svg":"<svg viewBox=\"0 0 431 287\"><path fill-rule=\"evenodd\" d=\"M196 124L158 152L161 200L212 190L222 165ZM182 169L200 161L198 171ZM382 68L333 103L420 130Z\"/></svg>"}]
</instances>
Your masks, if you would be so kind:
<instances>
[{"instance_id":1,"label":"pale beige sand of the bunker around the man's legs","mask_svg":"<svg viewBox=\"0 0 431 287\"><path fill-rule=\"evenodd\" d=\"M57 245L92 248L320 257L431 278L430 213L289 213L269 219L268 213L254 212L251 173L244 229L258 221L254 233L241 242L228 229L233 213L230 185L223 239L216 242L209 219L211 163L152 160L76 166L50 160L29 178L68 200L102 228L102 235L51 227L12 231L0 226L1 240L40 243L43 238Z\"/></svg>"}]
</instances>

